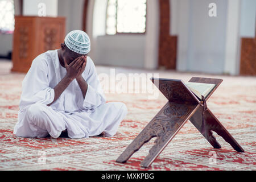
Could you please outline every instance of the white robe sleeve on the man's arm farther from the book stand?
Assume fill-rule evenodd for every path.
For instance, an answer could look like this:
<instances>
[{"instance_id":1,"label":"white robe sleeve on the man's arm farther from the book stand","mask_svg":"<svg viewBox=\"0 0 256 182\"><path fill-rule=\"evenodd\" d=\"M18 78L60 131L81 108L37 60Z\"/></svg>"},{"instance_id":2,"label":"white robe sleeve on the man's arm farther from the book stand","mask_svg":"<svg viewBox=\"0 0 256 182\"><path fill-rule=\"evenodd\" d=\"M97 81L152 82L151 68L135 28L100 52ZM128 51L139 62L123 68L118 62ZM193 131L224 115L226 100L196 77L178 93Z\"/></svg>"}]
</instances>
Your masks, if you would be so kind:
<instances>
[{"instance_id":1,"label":"white robe sleeve on the man's arm farther from the book stand","mask_svg":"<svg viewBox=\"0 0 256 182\"><path fill-rule=\"evenodd\" d=\"M50 104L54 100L54 89L49 87L46 58L38 56L32 61L30 70L22 81L20 110L31 104Z\"/></svg>"}]
</instances>

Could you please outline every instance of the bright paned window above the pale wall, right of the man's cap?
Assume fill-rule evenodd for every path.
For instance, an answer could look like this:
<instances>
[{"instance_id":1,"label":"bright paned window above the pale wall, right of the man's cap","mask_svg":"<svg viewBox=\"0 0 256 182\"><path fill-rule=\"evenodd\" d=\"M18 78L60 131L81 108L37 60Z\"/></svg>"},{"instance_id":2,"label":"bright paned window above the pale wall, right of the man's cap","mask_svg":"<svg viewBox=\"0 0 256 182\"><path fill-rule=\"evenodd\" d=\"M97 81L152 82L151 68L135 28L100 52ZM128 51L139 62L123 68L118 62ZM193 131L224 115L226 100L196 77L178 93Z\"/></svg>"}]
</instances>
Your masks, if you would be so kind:
<instances>
[{"instance_id":1,"label":"bright paned window above the pale wall, right of the man's cap","mask_svg":"<svg viewBox=\"0 0 256 182\"><path fill-rule=\"evenodd\" d=\"M108 0L106 34L144 33L146 0Z\"/></svg>"}]
</instances>

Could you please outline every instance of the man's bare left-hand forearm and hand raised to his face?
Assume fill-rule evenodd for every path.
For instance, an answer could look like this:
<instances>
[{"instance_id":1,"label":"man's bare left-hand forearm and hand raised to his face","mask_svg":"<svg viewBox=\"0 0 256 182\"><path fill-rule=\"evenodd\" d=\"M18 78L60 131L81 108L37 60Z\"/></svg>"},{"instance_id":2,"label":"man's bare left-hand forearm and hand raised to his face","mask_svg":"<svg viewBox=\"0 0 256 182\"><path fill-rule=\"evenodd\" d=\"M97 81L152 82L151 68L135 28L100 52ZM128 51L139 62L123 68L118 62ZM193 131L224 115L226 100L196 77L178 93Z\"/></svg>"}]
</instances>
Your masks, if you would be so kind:
<instances>
[{"instance_id":1,"label":"man's bare left-hand forearm and hand raised to his face","mask_svg":"<svg viewBox=\"0 0 256 182\"><path fill-rule=\"evenodd\" d=\"M67 69L67 75L57 84L54 88L54 100L51 104L48 104L47 106L50 106L55 102L61 95L61 93L64 92L64 90L68 87L68 85L78 76L81 72L81 65L84 63L84 57L77 57L74 61L72 61L71 64L67 64L67 62L64 59L65 68Z\"/></svg>"}]
</instances>

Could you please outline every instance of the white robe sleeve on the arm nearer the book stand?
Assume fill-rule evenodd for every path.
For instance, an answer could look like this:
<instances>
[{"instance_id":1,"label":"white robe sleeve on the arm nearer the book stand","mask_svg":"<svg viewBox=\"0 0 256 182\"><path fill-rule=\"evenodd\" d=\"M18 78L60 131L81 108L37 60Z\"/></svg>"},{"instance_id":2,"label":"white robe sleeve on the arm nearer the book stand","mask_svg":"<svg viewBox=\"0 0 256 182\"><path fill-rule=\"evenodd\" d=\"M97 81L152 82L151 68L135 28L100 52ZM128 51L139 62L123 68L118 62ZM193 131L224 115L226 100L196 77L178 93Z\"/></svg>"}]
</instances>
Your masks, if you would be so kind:
<instances>
[{"instance_id":1,"label":"white robe sleeve on the arm nearer the book stand","mask_svg":"<svg viewBox=\"0 0 256 182\"><path fill-rule=\"evenodd\" d=\"M88 61L89 73L87 77L84 77L88 84L88 89L82 104L82 110L94 110L96 107L106 102L106 98L101 88L95 65L90 57L88 57Z\"/></svg>"}]
</instances>

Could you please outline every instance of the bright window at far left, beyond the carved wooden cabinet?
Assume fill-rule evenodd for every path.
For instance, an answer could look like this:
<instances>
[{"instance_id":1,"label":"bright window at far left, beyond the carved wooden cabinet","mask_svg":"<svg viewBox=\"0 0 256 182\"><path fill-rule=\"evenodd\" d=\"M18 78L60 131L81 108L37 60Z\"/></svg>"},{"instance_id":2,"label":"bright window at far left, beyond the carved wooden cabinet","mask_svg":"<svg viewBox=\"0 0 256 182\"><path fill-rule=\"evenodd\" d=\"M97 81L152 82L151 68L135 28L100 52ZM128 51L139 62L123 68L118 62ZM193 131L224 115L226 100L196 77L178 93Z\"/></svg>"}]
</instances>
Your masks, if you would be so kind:
<instances>
[{"instance_id":1,"label":"bright window at far left, beyond the carved wooden cabinet","mask_svg":"<svg viewBox=\"0 0 256 182\"><path fill-rule=\"evenodd\" d=\"M14 31L14 2L13 0L0 1L0 32Z\"/></svg>"}]
</instances>

